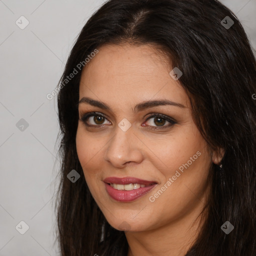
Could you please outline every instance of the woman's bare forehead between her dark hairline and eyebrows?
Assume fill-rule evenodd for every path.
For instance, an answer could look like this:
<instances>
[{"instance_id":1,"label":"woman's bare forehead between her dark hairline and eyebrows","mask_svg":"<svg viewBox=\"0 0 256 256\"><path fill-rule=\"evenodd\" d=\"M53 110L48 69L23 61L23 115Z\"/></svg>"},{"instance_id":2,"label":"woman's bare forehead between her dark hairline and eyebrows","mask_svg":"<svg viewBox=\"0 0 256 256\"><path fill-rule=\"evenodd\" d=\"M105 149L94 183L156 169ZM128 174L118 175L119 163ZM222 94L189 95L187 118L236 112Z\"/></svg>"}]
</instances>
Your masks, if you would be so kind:
<instances>
[{"instance_id":1,"label":"woman's bare forehead between her dark hairline and eyebrows","mask_svg":"<svg viewBox=\"0 0 256 256\"><path fill-rule=\"evenodd\" d=\"M169 72L169 59L151 45L103 45L82 70L79 98L116 103L166 98L188 106L188 98Z\"/></svg>"}]
</instances>

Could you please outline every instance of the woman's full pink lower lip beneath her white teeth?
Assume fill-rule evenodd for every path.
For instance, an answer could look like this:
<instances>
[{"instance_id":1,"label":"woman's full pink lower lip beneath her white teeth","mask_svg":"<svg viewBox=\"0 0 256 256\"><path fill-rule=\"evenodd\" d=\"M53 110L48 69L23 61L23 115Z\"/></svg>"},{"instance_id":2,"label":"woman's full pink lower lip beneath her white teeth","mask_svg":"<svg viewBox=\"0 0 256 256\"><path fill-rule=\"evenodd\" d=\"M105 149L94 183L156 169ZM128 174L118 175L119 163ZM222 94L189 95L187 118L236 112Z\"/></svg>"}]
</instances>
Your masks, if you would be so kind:
<instances>
[{"instance_id":1,"label":"woman's full pink lower lip beneath her white teeth","mask_svg":"<svg viewBox=\"0 0 256 256\"><path fill-rule=\"evenodd\" d=\"M147 192L149 192L153 187L155 187L157 184L153 184L150 186L140 187L137 189L132 190L118 190L113 187L111 187L109 184L105 183L106 191L116 201L121 202L130 202L133 201Z\"/></svg>"}]
</instances>

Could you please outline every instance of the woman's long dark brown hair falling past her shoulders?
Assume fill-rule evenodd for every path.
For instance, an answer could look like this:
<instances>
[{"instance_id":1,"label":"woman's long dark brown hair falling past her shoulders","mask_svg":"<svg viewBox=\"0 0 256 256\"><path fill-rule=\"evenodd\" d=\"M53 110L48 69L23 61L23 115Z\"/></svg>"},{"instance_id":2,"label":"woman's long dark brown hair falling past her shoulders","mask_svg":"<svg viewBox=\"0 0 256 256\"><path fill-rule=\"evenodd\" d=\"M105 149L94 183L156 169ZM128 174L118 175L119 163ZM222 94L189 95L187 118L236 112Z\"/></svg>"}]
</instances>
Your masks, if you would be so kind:
<instances>
[{"instance_id":1,"label":"woman's long dark brown hair falling past her shoulders","mask_svg":"<svg viewBox=\"0 0 256 256\"><path fill-rule=\"evenodd\" d=\"M226 16L234 21L230 28L221 23ZM91 196L75 144L77 64L102 45L121 43L148 44L169 56L170 65L183 72L179 82L197 128L211 148L225 150L222 168L210 168L207 218L185 255L255 256L256 61L239 20L217 0L109 0L77 36L57 87L61 256L127 255L124 232L108 224ZM65 84L74 68L77 74ZM72 169L80 174L74 183L67 178ZM226 220L234 226L229 234L220 228Z\"/></svg>"}]
</instances>

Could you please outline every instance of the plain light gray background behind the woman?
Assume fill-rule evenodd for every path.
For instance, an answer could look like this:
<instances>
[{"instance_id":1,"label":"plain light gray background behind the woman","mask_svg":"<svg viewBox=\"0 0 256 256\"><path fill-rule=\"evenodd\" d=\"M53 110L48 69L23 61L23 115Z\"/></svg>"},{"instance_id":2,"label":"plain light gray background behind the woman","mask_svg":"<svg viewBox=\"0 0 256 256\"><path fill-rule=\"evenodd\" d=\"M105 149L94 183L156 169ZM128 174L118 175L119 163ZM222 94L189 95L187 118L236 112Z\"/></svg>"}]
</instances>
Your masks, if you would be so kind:
<instances>
[{"instance_id":1,"label":"plain light gray background behind the woman","mask_svg":"<svg viewBox=\"0 0 256 256\"><path fill-rule=\"evenodd\" d=\"M256 0L221 2L237 14L256 48ZM46 94L56 87L75 37L102 3L0 0L1 256L59 255L51 200L58 185L59 128L56 97L48 100ZM24 29L15 23L21 15L29 21ZM28 127L16 126L21 118ZM15 229L21 220L29 226L24 234ZM18 227L25 230L22 223Z\"/></svg>"}]
</instances>

